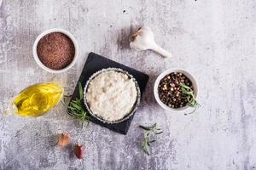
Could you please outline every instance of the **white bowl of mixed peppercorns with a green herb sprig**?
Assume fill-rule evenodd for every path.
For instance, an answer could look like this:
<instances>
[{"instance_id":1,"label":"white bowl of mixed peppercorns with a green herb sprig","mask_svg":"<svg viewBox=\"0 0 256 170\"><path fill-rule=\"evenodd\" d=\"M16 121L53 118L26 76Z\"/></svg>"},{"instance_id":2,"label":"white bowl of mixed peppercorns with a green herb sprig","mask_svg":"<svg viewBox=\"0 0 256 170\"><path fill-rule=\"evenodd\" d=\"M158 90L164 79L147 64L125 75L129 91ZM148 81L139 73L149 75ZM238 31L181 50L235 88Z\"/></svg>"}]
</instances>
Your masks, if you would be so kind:
<instances>
[{"instance_id":1,"label":"white bowl of mixed peppercorns with a green herb sprig","mask_svg":"<svg viewBox=\"0 0 256 170\"><path fill-rule=\"evenodd\" d=\"M198 107L195 78L181 69L168 69L154 82L154 98L166 111L184 111Z\"/></svg>"}]
</instances>

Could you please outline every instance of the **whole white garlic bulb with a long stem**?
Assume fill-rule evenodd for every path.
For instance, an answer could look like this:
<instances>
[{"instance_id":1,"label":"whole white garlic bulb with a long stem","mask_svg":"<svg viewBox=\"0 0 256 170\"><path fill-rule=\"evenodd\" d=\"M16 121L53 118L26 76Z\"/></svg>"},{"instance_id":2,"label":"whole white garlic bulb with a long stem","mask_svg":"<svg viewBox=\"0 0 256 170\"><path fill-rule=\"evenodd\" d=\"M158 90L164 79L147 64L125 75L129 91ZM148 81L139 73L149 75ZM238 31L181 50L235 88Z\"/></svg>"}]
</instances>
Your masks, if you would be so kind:
<instances>
[{"instance_id":1,"label":"whole white garlic bulb with a long stem","mask_svg":"<svg viewBox=\"0 0 256 170\"><path fill-rule=\"evenodd\" d=\"M140 27L131 35L130 47L136 51L151 49L166 58L172 57L171 53L154 42L154 33L148 26Z\"/></svg>"}]
</instances>

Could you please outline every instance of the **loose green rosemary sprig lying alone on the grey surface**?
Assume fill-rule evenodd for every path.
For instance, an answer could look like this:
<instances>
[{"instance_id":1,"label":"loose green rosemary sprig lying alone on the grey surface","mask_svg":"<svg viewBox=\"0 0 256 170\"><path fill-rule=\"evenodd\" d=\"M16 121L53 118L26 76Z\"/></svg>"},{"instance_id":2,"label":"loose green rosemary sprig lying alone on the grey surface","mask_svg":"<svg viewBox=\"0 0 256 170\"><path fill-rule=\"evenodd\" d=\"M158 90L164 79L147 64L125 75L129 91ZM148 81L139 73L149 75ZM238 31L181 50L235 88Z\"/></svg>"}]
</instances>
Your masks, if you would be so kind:
<instances>
[{"instance_id":1,"label":"loose green rosemary sprig lying alone on the grey surface","mask_svg":"<svg viewBox=\"0 0 256 170\"><path fill-rule=\"evenodd\" d=\"M157 127L156 123L148 127L143 125L139 125L139 127L143 128L146 131L146 133L144 133L142 148L144 152L149 156L150 155L149 146L151 143L155 142L155 140L150 139L151 134L160 134L160 133L163 133L163 131L159 127Z\"/></svg>"}]
</instances>

